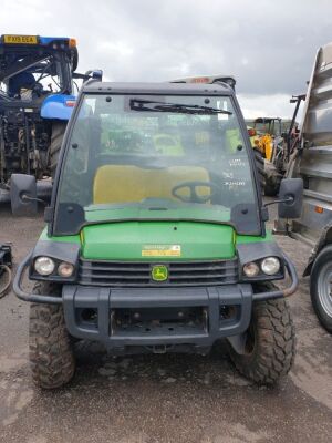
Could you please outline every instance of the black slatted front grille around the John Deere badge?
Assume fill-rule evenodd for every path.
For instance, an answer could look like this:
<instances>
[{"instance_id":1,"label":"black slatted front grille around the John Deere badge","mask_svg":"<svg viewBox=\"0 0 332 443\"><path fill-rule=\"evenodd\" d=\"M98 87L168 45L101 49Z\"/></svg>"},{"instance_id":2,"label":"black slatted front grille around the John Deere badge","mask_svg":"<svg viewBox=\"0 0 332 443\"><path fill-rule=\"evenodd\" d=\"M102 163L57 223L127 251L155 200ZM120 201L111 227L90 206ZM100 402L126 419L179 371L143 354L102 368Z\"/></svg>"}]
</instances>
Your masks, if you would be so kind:
<instances>
[{"instance_id":1,"label":"black slatted front grille around the John Deere badge","mask_svg":"<svg viewBox=\"0 0 332 443\"><path fill-rule=\"evenodd\" d=\"M91 261L81 259L79 282L108 287L217 286L238 280L238 262L232 260L160 262L168 268L168 279L154 281L156 262Z\"/></svg>"}]
</instances>

